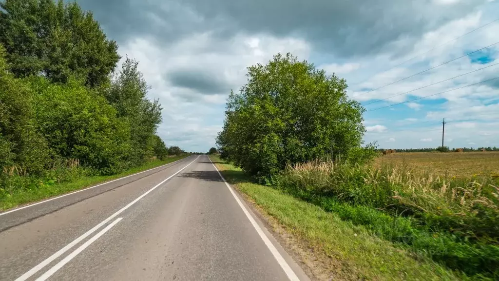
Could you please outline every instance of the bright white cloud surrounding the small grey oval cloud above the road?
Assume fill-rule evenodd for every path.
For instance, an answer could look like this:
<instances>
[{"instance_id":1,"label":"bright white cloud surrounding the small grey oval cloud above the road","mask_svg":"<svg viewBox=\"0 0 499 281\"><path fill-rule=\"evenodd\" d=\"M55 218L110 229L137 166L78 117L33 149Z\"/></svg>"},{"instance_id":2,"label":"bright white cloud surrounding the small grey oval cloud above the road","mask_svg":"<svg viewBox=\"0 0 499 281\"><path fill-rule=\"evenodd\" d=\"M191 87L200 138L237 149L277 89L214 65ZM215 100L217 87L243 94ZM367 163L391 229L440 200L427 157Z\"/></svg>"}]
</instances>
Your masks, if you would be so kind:
<instances>
[{"instance_id":1,"label":"bright white cloud surrounding the small grey oval cloud above the road","mask_svg":"<svg viewBox=\"0 0 499 281\"><path fill-rule=\"evenodd\" d=\"M134 38L119 49L139 61L139 70L151 85L149 96L163 105L163 123L158 134L168 146L207 151L215 146L222 129L225 101L230 88L238 90L246 82L247 66L265 63L277 52L290 51L307 58L309 45L297 38L240 34L220 42L210 33L193 34L169 46L155 44L152 38ZM228 85L223 92L179 87L172 83L172 72L179 69L209 73Z\"/></svg>"}]
</instances>

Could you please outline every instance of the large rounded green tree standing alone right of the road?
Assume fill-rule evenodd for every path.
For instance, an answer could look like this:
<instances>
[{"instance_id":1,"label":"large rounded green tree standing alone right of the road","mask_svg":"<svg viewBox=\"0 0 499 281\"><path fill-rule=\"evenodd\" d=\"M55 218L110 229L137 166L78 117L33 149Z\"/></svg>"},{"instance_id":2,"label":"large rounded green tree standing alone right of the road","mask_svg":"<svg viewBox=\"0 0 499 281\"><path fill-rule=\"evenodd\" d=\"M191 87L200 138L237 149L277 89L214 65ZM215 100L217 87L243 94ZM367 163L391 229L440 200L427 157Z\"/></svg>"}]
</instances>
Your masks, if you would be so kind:
<instances>
[{"instance_id":1,"label":"large rounded green tree standing alone right of the road","mask_svg":"<svg viewBox=\"0 0 499 281\"><path fill-rule=\"evenodd\" d=\"M247 76L240 93L231 91L217 137L219 151L247 173L269 177L288 163L360 155L365 109L348 99L344 79L289 53L250 66Z\"/></svg>"}]
</instances>

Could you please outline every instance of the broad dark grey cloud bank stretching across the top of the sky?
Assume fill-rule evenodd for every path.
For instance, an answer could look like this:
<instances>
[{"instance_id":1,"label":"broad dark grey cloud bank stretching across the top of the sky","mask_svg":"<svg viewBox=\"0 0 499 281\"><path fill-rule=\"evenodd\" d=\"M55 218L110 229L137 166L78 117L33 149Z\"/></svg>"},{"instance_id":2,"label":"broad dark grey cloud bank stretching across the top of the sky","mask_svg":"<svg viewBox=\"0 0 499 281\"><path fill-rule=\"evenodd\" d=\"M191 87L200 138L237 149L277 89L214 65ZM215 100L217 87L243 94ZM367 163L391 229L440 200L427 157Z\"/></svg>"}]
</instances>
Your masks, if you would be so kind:
<instances>
[{"instance_id":1,"label":"broad dark grey cloud bank stretching across the top of the sky","mask_svg":"<svg viewBox=\"0 0 499 281\"><path fill-rule=\"evenodd\" d=\"M80 0L117 40L148 34L164 44L192 32L220 37L266 32L297 35L337 56L368 55L396 40L410 48L424 32L475 10L486 0Z\"/></svg>"}]
</instances>

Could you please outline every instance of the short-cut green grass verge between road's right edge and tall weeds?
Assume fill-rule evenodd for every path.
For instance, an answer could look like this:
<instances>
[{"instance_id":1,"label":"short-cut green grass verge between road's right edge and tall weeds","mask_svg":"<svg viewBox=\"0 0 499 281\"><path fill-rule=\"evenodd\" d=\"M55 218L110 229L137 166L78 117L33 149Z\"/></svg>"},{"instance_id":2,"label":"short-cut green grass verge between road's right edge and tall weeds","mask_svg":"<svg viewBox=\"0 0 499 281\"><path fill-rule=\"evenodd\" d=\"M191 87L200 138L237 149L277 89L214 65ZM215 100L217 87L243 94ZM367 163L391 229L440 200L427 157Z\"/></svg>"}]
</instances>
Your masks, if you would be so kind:
<instances>
[{"instance_id":1,"label":"short-cut green grass verge between road's right edge and tall weeds","mask_svg":"<svg viewBox=\"0 0 499 281\"><path fill-rule=\"evenodd\" d=\"M339 262L335 279L459 280L466 276L369 233L312 203L269 186L250 182L240 168L210 156L227 181L247 194L286 231ZM323 262L327 264L328 262Z\"/></svg>"}]
</instances>

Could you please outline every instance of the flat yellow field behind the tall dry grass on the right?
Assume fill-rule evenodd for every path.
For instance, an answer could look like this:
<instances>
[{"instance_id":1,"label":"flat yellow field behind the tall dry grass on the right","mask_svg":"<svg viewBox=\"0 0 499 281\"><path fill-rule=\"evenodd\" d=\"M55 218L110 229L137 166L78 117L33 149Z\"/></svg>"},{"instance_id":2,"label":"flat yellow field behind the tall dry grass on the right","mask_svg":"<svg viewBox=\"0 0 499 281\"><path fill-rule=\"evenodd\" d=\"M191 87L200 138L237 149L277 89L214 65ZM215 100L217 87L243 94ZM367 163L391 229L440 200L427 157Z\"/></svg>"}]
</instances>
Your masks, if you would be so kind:
<instances>
[{"instance_id":1,"label":"flat yellow field behind the tall dry grass on the right","mask_svg":"<svg viewBox=\"0 0 499 281\"><path fill-rule=\"evenodd\" d=\"M499 174L499 152L397 152L376 158L375 166L407 164L420 172L469 176Z\"/></svg>"}]
</instances>

